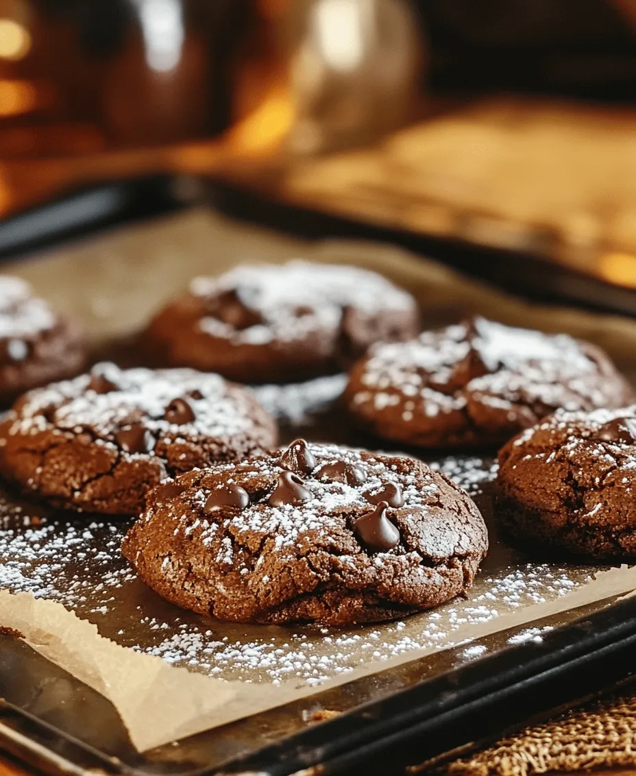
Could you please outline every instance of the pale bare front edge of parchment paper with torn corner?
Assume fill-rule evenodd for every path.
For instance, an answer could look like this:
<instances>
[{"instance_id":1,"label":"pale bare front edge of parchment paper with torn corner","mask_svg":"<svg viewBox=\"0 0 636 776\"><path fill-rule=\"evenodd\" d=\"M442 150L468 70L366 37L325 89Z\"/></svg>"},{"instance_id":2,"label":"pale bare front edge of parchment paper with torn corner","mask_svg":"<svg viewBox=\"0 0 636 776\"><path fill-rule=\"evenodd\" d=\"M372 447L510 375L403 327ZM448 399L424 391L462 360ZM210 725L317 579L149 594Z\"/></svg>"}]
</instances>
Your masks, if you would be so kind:
<instances>
[{"instance_id":1,"label":"pale bare front edge of parchment paper with torn corner","mask_svg":"<svg viewBox=\"0 0 636 776\"><path fill-rule=\"evenodd\" d=\"M596 580L556 601L527 607L481 626L466 625L455 637L458 643L477 639L634 588L636 568L603 571ZM434 652L434 647L429 647L390 660L374 660L313 687L295 682L272 686L206 677L171 666L160 657L126 649L100 636L95 625L62 605L28 593L0 591L0 622L21 632L36 652L109 698L133 744L142 752Z\"/></svg>"}]
</instances>

